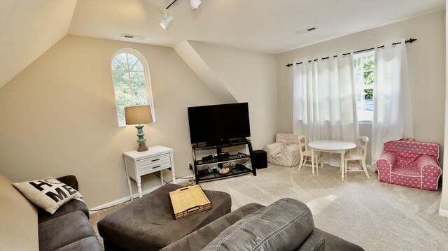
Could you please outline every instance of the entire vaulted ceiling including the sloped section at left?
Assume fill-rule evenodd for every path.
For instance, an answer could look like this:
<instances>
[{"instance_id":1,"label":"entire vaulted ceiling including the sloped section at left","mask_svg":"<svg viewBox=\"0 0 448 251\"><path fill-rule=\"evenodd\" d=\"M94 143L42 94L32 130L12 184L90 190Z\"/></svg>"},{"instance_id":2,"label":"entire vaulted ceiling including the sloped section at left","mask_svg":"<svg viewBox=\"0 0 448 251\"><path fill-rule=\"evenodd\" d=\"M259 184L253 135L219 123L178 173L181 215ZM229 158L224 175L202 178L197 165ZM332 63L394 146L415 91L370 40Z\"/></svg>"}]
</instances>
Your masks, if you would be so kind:
<instances>
[{"instance_id":1,"label":"entire vaulted ceiling including the sloped section at left","mask_svg":"<svg viewBox=\"0 0 448 251\"><path fill-rule=\"evenodd\" d=\"M0 87L66 34L172 47L185 40L278 53L443 10L444 0L0 0ZM297 31L315 27L314 31ZM122 34L144 36L143 40Z\"/></svg>"}]
</instances>

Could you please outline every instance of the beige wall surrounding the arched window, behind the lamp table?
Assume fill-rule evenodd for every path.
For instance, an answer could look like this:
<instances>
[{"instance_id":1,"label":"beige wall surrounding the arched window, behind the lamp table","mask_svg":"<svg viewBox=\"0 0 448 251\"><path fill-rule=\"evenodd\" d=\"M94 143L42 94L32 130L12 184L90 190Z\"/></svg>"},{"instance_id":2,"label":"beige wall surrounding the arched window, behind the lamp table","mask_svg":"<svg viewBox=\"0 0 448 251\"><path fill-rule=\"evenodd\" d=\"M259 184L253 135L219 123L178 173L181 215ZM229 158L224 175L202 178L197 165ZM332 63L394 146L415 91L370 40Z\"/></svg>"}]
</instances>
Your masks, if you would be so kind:
<instances>
[{"instance_id":1,"label":"beige wall surrounding the arched window, behind the lamp table","mask_svg":"<svg viewBox=\"0 0 448 251\"><path fill-rule=\"evenodd\" d=\"M120 48L150 67L156 122L144 127L147 145L173 148L176 176L192 174L187 107L216 96L172 48L80 36L62 38L0 89L1 173L15 182L74 174L89 208L129 196L122 152L137 148L137 129L118 127L111 57ZM158 185L144 177L143 189Z\"/></svg>"}]
</instances>

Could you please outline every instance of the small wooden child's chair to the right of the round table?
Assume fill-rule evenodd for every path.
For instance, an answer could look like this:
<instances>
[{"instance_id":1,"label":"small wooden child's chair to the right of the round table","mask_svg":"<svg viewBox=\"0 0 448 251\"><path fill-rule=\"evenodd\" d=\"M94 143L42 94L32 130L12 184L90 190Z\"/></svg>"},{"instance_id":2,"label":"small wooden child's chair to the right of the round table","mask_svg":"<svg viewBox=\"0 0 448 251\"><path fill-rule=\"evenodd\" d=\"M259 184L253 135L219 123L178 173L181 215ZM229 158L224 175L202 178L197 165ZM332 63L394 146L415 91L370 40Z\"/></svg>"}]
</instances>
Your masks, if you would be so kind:
<instances>
[{"instance_id":1,"label":"small wooden child's chair to the right of the round table","mask_svg":"<svg viewBox=\"0 0 448 251\"><path fill-rule=\"evenodd\" d=\"M367 178L370 178L369 173L367 173L367 166L365 165L365 159L367 157L367 144L369 143L369 138L366 136L358 137L358 146L356 152L347 152L344 155L344 166L345 174L347 172L364 172ZM351 166L358 166L357 169L351 169Z\"/></svg>"}]
</instances>

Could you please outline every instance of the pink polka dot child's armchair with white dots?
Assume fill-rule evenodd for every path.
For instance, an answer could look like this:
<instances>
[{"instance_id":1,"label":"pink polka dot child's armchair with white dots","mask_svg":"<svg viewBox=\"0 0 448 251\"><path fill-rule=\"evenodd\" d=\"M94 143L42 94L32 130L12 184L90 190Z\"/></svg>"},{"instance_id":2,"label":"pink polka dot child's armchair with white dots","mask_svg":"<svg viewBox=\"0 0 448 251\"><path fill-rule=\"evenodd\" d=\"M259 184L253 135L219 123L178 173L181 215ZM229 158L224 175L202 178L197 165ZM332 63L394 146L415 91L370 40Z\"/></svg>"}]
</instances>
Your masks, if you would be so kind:
<instances>
[{"instance_id":1,"label":"pink polka dot child's armchair with white dots","mask_svg":"<svg viewBox=\"0 0 448 251\"><path fill-rule=\"evenodd\" d=\"M412 138L389 141L377 160L378 179L395 185L437 190L442 168L439 145Z\"/></svg>"}]
</instances>

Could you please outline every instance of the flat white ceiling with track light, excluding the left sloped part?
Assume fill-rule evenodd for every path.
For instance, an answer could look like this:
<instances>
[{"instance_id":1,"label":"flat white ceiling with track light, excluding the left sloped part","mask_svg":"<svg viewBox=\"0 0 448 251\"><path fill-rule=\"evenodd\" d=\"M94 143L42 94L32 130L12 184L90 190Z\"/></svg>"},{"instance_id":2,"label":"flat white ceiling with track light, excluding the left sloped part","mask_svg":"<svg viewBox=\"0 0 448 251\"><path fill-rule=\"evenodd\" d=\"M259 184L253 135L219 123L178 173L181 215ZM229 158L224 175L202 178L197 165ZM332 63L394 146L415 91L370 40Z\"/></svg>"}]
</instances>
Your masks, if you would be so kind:
<instances>
[{"instance_id":1,"label":"flat white ceiling with track light, excluding the left sloped part","mask_svg":"<svg viewBox=\"0 0 448 251\"><path fill-rule=\"evenodd\" d=\"M145 36L153 45L184 40L278 53L442 10L444 0L202 0L169 7L174 21L166 31L159 21L172 0L78 0L69 34L124 40ZM316 27L297 34L296 31Z\"/></svg>"}]
</instances>

